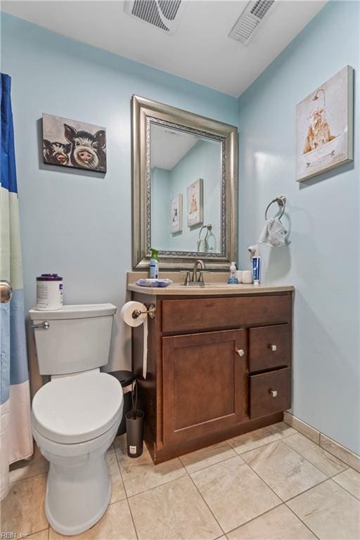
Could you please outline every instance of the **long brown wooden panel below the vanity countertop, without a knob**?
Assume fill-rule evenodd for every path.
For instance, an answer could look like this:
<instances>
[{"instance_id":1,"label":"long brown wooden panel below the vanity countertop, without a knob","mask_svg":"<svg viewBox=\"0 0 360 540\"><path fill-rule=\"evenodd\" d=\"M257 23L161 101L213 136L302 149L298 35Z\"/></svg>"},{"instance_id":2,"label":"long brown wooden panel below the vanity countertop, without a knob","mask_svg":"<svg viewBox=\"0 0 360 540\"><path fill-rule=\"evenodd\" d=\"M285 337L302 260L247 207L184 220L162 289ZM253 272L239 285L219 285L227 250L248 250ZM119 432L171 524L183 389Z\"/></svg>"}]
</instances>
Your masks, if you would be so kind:
<instances>
[{"instance_id":1,"label":"long brown wooden panel below the vanity countertop, without a knob","mask_svg":"<svg viewBox=\"0 0 360 540\"><path fill-rule=\"evenodd\" d=\"M288 323L291 313L289 293L162 300L162 332Z\"/></svg>"}]
</instances>

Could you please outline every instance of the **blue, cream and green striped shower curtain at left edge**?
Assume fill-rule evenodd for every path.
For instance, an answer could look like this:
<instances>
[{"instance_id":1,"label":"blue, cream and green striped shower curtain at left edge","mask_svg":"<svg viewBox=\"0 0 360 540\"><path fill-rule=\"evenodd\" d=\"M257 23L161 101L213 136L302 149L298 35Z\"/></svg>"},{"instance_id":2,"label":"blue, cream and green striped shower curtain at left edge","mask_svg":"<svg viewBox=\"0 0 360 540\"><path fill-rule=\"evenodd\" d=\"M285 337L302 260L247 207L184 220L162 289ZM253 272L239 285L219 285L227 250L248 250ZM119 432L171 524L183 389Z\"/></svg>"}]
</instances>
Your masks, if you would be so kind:
<instances>
[{"instance_id":1,"label":"blue, cream and green striped shower curtain at left edge","mask_svg":"<svg viewBox=\"0 0 360 540\"><path fill-rule=\"evenodd\" d=\"M13 287L0 304L0 500L8 492L10 463L32 455L30 388L25 342L18 188L16 185L11 77L0 74L0 279Z\"/></svg>"}]
</instances>

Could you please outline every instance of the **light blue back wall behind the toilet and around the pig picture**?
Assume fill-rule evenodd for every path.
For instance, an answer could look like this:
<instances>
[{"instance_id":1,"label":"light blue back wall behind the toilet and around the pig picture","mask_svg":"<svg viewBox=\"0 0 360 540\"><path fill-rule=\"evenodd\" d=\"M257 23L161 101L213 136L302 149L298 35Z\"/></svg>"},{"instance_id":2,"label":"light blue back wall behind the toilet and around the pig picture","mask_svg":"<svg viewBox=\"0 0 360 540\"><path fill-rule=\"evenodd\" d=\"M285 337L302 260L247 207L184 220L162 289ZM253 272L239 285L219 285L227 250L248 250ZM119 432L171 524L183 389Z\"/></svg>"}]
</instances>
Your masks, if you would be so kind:
<instances>
[{"instance_id":1,"label":"light blue back wall behind the toilet and around the pig picture","mask_svg":"<svg viewBox=\"0 0 360 540\"><path fill-rule=\"evenodd\" d=\"M11 15L1 25L1 69L13 79L26 309L35 276L46 271L64 277L66 303L120 309L131 269L131 95L229 124L237 124L238 101ZM105 126L107 174L44 167L42 113ZM118 312L109 367L130 365L129 339Z\"/></svg>"}]
</instances>

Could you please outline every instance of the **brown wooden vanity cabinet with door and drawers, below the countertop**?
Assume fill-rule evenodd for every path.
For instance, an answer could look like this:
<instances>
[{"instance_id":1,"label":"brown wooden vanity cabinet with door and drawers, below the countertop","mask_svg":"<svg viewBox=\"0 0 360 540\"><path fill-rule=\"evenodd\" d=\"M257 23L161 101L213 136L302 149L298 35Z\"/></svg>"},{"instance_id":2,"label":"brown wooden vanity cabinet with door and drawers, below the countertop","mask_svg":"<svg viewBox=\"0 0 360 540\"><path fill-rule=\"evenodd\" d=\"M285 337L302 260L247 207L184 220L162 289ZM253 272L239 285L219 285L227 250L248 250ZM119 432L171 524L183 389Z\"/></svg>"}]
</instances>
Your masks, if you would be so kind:
<instances>
[{"instance_id":1,"label":"brown wooden vanity cabinet with door and drawers, below the countertop","mask_svg":"<svg viewBox=\"0 0 360 540\"><path fill-rule=\"evenodd\" d=\"M279 422L291 406L292 291L174 297L133 293L155 304L133 328L134 371L144 438L155 463Z\"/></svg>"}]
</instances>

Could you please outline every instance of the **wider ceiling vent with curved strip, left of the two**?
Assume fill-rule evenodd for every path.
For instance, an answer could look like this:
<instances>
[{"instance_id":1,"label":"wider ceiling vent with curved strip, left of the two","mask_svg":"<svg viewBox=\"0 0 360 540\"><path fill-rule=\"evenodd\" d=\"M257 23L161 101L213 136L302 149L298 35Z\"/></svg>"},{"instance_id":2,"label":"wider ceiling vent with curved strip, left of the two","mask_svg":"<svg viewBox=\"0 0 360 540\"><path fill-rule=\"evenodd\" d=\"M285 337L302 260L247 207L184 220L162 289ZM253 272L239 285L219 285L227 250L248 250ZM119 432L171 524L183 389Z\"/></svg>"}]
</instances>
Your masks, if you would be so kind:
<instances>
[{"instance_id":1,"label":"wider ceiling vent with curved strip, left of the two","mask_svg":"<svg viewBox=\"0 0 360 540\"><path fill-rule=\"evenodd\" d=\"M179 26L185 2L181 0L127 0L124 12L167 34L174 34Z\"/></svg>"}]
</instances>

